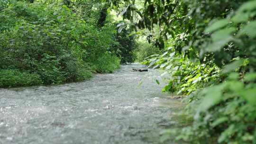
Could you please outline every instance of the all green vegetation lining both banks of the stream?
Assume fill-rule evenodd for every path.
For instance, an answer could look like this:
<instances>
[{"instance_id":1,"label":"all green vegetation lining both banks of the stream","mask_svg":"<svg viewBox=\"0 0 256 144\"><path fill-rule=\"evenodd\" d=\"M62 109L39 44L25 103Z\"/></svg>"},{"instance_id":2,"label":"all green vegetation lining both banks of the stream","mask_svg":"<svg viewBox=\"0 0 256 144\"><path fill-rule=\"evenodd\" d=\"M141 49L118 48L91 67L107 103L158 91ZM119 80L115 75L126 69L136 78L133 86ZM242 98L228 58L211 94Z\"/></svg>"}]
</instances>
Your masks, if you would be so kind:
<instances>
[{"instance_id":1,"label":"all green vegetation lining both banks of the stream","mask_svg":"<svg viewBox=\"0 0 256 144\"><path fill-rule=\"evenodd\" d=\"M163 142L256 142L256 0L1 0L0 51L0 87L143 61L163 71L164 92L186 97L191 124Z\"/></svg>"}]
</instances>

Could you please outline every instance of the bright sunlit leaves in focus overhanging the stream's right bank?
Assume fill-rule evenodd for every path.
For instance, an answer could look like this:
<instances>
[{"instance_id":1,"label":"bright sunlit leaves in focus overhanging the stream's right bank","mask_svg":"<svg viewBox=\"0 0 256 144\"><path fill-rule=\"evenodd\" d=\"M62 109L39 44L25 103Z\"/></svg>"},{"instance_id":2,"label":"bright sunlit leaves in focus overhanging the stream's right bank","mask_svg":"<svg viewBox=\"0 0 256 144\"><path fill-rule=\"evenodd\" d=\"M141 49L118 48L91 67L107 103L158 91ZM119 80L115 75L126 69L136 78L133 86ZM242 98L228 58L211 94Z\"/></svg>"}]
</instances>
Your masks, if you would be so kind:
<instances>
[{"instance_id":1,"label":"bright sunlit leaves in focus overhanging the stream's right bank","mask_svg":"<svg viewBox=\"0 0 256 144\"><path fill-rule=\"evenodd\" d=\"M192 62L187 57L176 54L172 49L162 55L150 56L146 63L149 67L164 71L162 76L169 81L163 89L164 92L189 95L198 88L218 82L220 78L220 70L213 62Z\"/></svg>"}]
</instances>

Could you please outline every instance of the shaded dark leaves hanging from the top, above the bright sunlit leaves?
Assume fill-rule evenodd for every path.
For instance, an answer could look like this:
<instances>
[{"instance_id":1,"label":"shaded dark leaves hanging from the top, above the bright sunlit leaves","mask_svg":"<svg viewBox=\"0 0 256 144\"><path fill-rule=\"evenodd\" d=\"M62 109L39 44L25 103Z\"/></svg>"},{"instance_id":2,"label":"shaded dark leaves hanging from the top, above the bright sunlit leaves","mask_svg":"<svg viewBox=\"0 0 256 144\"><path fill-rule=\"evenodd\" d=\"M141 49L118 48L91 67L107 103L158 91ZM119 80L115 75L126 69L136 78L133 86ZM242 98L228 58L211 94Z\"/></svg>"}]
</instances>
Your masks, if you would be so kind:
<instances>
[{"instance_id":1,"label":"shaded dark leaves hanging from the top, above the bright sunlit leaves","mask_svg":"<svg viewBox=\"0 0 256 144\"><path fill-rule=\"evenodd\" d=\"M176 52L185 52L189 58L203 59L204 55L200 53L204 52L203 43L209 38L205 28L210 21L230 16L234 9L247 0L144 0L142 7L133 0L111 1L123 9L121 14L132 22L131 25L150 31L159 27L159 32L147 35L147 39L155 45L163 49L166 47L165 40L173 39ZM225 57L226 62L231 59L230 56Z\"/></svg>"}]
</instances>

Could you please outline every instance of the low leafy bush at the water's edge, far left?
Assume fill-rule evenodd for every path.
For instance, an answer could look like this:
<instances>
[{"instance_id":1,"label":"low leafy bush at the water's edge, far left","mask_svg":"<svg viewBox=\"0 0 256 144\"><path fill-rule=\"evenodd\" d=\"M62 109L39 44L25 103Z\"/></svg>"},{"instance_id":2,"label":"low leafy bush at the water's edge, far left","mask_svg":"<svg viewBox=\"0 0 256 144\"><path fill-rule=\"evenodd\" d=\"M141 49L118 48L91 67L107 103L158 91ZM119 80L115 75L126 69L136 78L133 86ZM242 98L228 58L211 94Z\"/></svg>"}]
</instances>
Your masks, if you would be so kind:
<instances>
[{"instance_id":1,"label":"low leafy bush at the water's edge, far left","mask_svg":"<svg viewBox=\"0 0 256 144\"><path fill-rule=\"evenodd\" d=\"M18 87L42 84L40 76L18 70L0 70L0 87Z\"/></svg>"}]
</instances>

